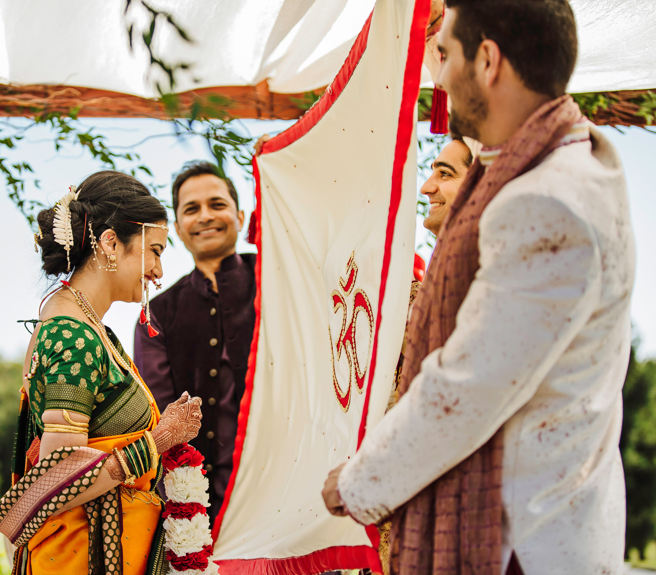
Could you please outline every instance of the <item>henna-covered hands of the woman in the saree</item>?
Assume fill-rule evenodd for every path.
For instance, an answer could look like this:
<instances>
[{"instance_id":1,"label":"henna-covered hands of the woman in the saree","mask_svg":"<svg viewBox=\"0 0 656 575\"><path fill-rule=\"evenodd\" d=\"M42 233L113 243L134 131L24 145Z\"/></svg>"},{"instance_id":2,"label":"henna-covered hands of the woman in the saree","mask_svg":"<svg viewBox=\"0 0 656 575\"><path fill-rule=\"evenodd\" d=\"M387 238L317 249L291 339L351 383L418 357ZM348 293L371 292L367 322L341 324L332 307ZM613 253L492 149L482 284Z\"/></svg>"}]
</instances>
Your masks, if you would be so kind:
<instances>
[{"instance_id":1,"label":"henna-covered hands of the woman in the saree","mask_svg":"<svg viewBox=\"0 0 656 575\"><path fill-rule=\"evenodd\" d=\"M186 391L178 401L169 403L164 410L159 424L153 429L157 452L162 454L174 445L190 441L198 435L201 428L201 401L200 397L190 397Z\"/></svg>"}]
</instances>

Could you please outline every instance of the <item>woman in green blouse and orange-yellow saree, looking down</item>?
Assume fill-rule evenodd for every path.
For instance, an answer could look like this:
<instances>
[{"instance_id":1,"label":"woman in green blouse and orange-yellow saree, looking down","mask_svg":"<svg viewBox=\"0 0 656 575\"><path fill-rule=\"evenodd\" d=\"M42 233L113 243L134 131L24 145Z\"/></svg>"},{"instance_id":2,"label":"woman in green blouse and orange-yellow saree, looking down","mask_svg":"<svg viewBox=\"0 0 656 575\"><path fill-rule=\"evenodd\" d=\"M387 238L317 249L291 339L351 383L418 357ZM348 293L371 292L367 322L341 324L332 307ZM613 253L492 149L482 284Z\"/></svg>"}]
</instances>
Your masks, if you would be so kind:
<instances>
[{"instance_id":1,"label":"woman in green blouse and orange-yellow saree, looking down","mask_svg":"<svg viewBox=\"0 0 656 575\"><path fill-rule=\"evenodd\" d=\"M43 307L24 364L12 488L0 501L0 532L18 547L13 572L164 573L160 455L197 435L201 401L185 392L160 416L102 317L113 302L142 302L148 321L166 210L108 170L37 222L46 275L72 275Z\"/></svg>"}]
</instances>

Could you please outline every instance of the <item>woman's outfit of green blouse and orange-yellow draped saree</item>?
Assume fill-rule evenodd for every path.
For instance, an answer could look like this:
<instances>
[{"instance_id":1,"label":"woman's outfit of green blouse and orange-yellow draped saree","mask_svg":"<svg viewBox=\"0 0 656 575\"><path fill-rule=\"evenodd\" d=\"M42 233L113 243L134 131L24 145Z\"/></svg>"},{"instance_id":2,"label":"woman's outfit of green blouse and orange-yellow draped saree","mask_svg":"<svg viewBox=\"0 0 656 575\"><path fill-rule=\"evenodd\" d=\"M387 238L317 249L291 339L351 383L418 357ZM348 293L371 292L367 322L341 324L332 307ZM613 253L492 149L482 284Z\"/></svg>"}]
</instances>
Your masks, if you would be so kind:
<instances>
[{"instance_id":1,"label":"woman's outfit of green blouse and orange-yellow draped saree","mask_svg":"<svg viewBox=\"0 0 656 575\"><path fill-rule=\"evenodd\" d=\"M161 479L161 461L134 485L120 485L52 517L56 507L64 504L61 502L94 483L104 454L134 443L146 429L152 431L160 414L150 390L109 328L108 335L148 393L113 365L95 332L83 322L56 317L44 322L41 332L35 345L39 368L30 380L29 397L22 393L20 401L12 490L0 502L0 531L10 531L10 540L18 545L13 574L165 574L163 504L155 487ZM60 448L37 463L34 448L43 432L41 413L55 408L91 418L88 445ZM80 463L73 468L76 457ZM48 475L54 478L50 482L44 481ZM32 503L26 505L29 494ZM24 529L16 526L21 523L16 515L21 513Z\"/></svg>"}]
</instances>

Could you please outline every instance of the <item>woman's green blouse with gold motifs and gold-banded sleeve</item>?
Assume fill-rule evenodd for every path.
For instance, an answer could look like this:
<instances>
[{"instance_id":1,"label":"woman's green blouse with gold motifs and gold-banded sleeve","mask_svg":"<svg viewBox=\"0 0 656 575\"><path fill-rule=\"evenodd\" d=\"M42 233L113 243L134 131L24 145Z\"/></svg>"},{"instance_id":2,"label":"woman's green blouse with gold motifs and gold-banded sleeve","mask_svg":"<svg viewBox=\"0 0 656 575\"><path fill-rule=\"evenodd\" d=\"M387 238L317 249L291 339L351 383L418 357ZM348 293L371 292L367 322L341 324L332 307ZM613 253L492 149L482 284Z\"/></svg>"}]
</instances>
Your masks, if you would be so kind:
<instances>
[{"instance_id":1,"label":"woman's green blouse with gold motifs and gold-banded sleeve","mask_svg":"<svg viewBox=\"0 0 656 575\"><path fill-rule=\"evenodd\" d=\"M107 331L123 353L120 342L109 328ZM148 398L132 377L111 361L100 336L88 323L65 315L47 319L41 324L34 351L39 355L39 365L30 380L30 407L41 433L41 416L48 409L89 416L90 437L129 433L148 425ZM112 420L119 415L119 407L119 427L123 429L114 429ZM104 417L98 422L100 414ZM126 423L129 430L124 427Z\"/></svg>"}]
</instances>

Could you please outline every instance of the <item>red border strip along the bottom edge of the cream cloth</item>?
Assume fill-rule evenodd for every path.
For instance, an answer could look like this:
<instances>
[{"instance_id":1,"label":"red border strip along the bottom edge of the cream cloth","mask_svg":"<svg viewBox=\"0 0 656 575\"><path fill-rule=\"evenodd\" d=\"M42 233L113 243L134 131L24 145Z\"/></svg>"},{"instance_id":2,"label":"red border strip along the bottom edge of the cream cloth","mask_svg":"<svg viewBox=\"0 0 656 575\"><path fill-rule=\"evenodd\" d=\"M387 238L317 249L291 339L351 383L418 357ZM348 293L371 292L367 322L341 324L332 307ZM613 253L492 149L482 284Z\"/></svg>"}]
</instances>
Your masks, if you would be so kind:
<instances>
[{"instance_id":1,"label":"red border strip along the bottom edge of the cream cloth","mask_svg":"<svg viewBox=\"0 0 656 575\"><path fill-rule=\"evenodd\" d=\"M380 565L380 560L373 547L355 545L328 547L287 559L226 559L215 563L221 575L307 575L333 569L361 569L363 565Z\"/></svg>"}]
</instances>

